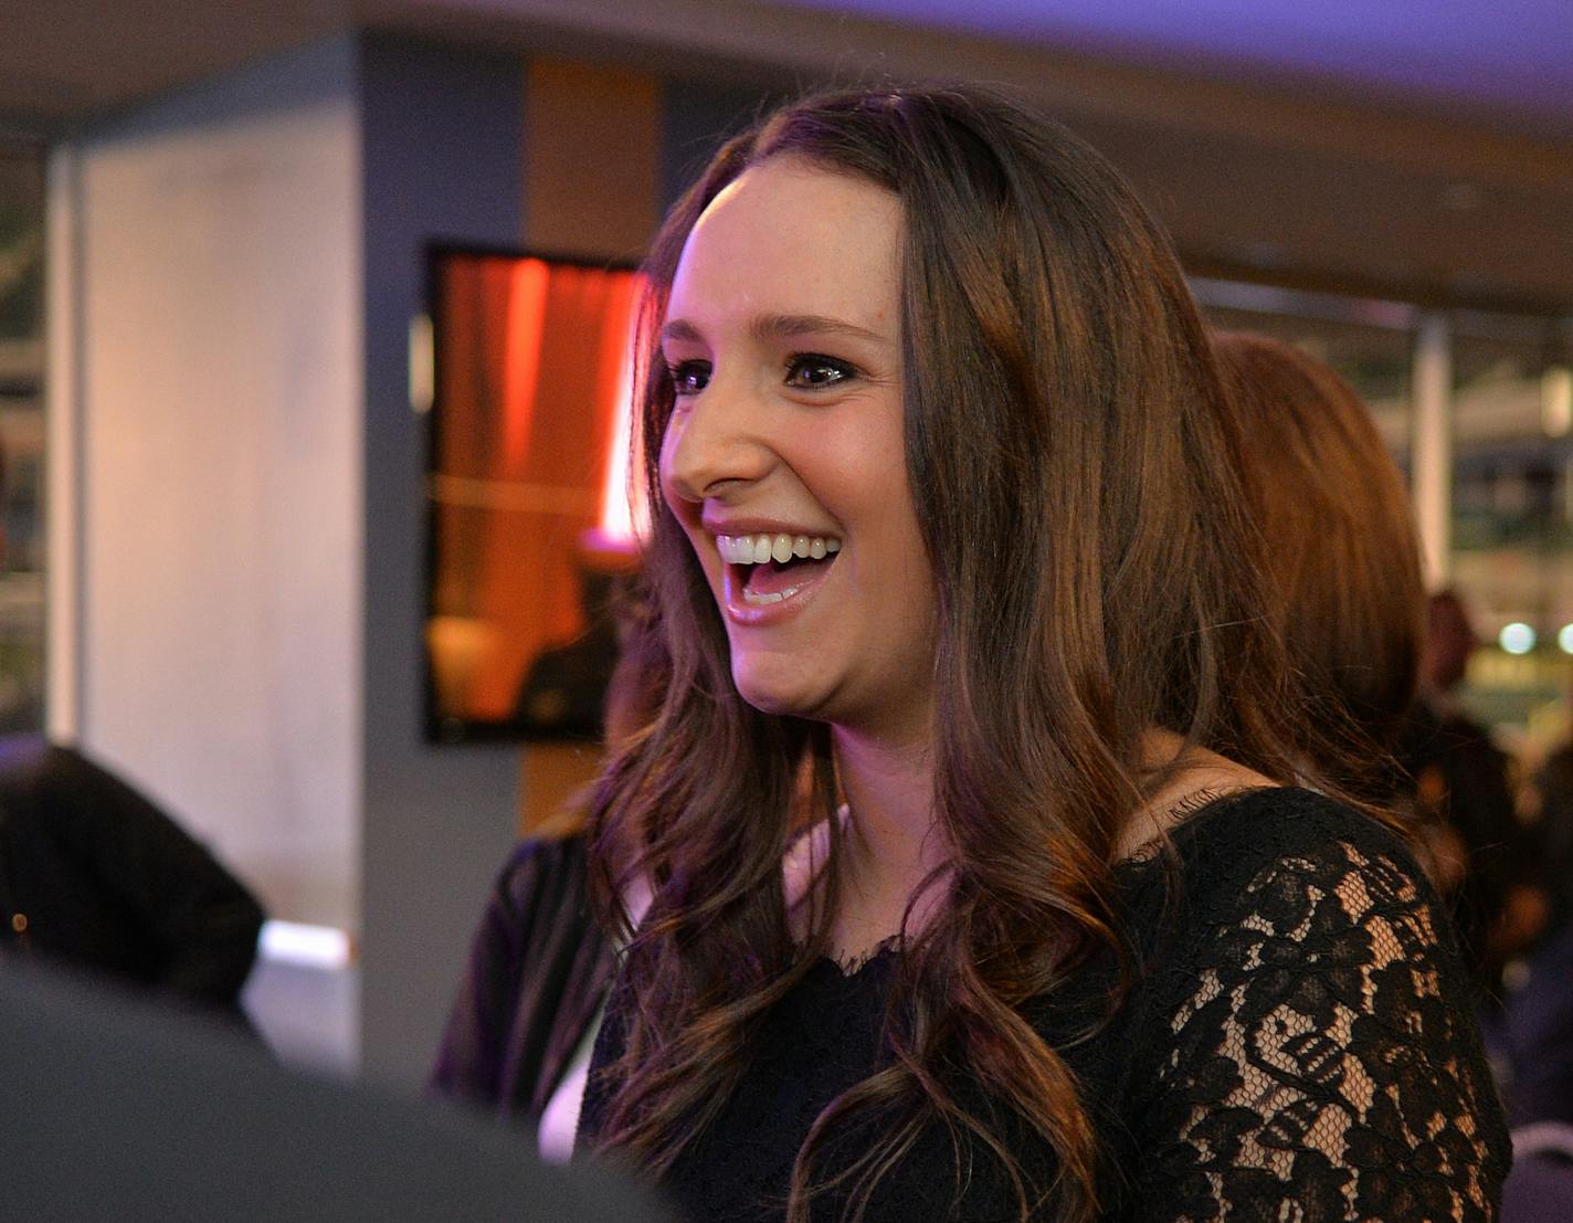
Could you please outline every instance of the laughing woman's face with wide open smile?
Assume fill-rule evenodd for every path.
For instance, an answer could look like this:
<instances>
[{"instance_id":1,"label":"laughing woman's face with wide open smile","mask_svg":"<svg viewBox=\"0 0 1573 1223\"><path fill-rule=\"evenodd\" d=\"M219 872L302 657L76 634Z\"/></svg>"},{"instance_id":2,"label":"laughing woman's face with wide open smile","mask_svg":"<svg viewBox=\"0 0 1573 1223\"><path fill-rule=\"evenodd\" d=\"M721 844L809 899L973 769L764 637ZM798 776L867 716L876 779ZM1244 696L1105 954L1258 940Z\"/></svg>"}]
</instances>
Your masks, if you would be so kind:
<instances>
[{"instance_id":1,"label":"laughing woman's face with wide open smile","mask_svg":"<svg viewBox=\"0 0 1573 1223\"><path fill-rule=\"evenodd\" d=\"M782 157L705 209L672 285L665 501L753 707L928 732L934 586L901 431L901 208Z\"/></svg>"}]
</instances>

